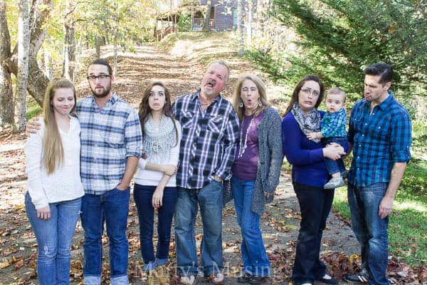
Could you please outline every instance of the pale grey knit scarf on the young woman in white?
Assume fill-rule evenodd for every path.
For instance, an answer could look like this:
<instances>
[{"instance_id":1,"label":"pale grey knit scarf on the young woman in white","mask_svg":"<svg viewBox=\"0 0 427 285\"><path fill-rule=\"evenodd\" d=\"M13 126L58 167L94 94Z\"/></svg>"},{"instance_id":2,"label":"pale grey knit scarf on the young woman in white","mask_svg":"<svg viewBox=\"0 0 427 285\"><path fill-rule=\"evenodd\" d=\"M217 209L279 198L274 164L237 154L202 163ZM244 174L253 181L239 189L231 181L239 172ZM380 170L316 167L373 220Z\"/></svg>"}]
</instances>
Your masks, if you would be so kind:
<instances>
[{"instance_id":1,"label":"pale grey knit scarf on the young woman in white","mask_svg":"<svg viewBox=\"0 0 427 285\"><path fill-rule=\"evenodd\" d=\"M151 115L144 124L144 138L142 150L147 154L149 162L164 165L170 160L171 148L176 145L174 122L171 118L162 115L159 128L154 125Z\"/></svg>"}]
</instances>

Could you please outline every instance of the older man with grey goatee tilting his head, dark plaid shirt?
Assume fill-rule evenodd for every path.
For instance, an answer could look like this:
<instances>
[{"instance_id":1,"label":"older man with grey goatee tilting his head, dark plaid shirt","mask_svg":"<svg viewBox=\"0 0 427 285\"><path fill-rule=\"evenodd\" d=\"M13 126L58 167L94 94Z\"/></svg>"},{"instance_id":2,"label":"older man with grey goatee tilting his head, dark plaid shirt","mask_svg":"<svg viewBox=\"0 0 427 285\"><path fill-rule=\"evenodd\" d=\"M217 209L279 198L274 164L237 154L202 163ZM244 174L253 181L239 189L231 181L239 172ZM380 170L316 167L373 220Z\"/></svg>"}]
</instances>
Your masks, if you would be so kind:
<instances>
[{"instance_id":1,"label":"older man with grey goatee tilting his head, dark plaid shirt","mask_svg":"<svg viewBox=\"0 0 427 285\"><path fill-rule=\"evenodd\" d=\"M175 207L176 264L181 284L196 283L194 222L199 207L204 232L202 271L214 284L223 282L222 181L231 178L239 128L233 105L219 94L228 75L225 62L211 63L200 89L177 98L173 106L182 126Z\"/></svg>"}]
</instances>

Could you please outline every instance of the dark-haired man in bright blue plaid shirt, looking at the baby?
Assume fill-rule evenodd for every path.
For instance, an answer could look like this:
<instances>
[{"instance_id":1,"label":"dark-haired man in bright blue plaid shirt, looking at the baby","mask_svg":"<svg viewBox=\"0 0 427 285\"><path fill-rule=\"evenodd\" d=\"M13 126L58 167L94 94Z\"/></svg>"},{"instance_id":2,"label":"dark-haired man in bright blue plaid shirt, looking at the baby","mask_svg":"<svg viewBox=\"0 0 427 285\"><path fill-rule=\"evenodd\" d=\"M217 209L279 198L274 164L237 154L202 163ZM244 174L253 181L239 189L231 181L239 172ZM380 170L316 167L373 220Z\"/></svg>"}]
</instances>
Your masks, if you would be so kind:
<instances>
[{"instance_id":1,"label":"dark-haired man in bright blue plaid shirt, looking at the baby","mask_svg":"<svg viewBox=\"0 0 427 285\"><path fill-rule=\"evenodd\" d=\"M362 271L347 281L389 284L389 215L411 157L411 119L389 90L393 70L375 63L364 70L364 99L352 108L348 140L353 149L348 174L352 227L362 251Z\"/></svg>"}]
</instances>

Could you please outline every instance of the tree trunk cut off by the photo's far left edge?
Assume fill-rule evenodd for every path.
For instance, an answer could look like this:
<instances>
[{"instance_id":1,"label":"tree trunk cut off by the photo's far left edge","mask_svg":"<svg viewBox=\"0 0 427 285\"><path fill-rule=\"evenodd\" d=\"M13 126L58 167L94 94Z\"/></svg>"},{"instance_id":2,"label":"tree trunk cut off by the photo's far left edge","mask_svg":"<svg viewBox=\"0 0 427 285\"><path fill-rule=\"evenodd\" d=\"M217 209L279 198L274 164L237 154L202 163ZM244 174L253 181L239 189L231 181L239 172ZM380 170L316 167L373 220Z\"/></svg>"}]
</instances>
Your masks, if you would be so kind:
<instances>
[{"instance_id":1,"label":"tree trunk cut off by the photo's far left edge","mask_svg":"<svg viewBox=\"0 0 427 285\"><path fill-rule=\"evenodd\" d=\"M11 37L6 19L6 1L0 0L0 128L14 123L11 72L6 63L10 56Z\"/></svg>"}]
</instances>

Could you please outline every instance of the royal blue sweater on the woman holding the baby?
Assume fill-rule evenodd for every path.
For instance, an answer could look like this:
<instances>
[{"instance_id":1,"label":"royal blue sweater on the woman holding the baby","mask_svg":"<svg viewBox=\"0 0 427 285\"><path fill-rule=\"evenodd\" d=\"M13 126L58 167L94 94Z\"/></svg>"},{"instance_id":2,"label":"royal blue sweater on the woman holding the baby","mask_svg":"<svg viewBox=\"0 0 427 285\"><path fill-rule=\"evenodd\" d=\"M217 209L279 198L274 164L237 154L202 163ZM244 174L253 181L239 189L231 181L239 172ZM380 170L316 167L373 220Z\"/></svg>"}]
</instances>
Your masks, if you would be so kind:
<instances>
[{"instance_id":1,"label":"royal blue sweater on the woman holding the baby","mask_svg":"<svg viewBox=\"0 0 427 285\"><path fill-rule=\"evenodd\" d=\"M319 113L321 117L325 115ZM286 159L292 165L292 182L323 188L330 175L323 162L322 143L307 139L292 113L283 118L282 142Z\"/></svg>"}]
</instances>

